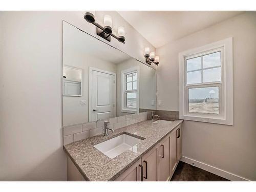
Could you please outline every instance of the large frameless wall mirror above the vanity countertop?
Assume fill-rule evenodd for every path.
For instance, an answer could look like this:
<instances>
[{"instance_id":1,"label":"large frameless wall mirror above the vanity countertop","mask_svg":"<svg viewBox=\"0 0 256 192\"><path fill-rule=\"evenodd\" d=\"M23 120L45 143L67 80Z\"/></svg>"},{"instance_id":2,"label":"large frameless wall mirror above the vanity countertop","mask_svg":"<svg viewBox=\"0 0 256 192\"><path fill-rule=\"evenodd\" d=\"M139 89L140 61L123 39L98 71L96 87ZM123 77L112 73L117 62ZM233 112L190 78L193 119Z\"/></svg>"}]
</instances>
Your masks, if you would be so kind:
<instances>
[{"instance_id":1,"label":"large frameless wall mirror above the vanity countertop","mask_svg":"<svg viewBox=\"0 0 256 192\"><path fill-rule=\"evenodd\" d=\"M156 70L63 21L63 126L156 110Z\"/></svg>"}]
</instances>

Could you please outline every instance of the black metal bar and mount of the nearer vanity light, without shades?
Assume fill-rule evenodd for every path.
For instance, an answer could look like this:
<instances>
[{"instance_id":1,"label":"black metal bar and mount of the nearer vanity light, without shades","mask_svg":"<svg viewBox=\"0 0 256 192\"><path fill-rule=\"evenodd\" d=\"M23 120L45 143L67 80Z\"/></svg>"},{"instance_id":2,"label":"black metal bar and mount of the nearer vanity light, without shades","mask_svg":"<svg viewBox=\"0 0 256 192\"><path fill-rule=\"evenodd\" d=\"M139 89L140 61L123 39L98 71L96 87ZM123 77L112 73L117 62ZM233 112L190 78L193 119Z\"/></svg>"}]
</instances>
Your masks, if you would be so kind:
<instances>
[{"instance_id":1,"label":"black metal bar and mount of the nearer vanity light, without shades","mask_svg":"<svg viewBox=\"0 0 256 192\"><path fill-rule=\"evenodd\" d=\"M84 17L84 19L87 20L88 23L93 24L94 26L96 26L96 34L99 35L100 37L104 38L105 40L111 41L110 36L114 37L115 39L117 39L119 42L122 42L124 44L125 38L124 36L120 36L117 37L116 35L114 35L112 33L112 29L111 27L106 26L105 28L102 27L101 25L97 24L95 22L95 18L94 15L90 12L87 12Z\"/></svg>"}]
</instances>

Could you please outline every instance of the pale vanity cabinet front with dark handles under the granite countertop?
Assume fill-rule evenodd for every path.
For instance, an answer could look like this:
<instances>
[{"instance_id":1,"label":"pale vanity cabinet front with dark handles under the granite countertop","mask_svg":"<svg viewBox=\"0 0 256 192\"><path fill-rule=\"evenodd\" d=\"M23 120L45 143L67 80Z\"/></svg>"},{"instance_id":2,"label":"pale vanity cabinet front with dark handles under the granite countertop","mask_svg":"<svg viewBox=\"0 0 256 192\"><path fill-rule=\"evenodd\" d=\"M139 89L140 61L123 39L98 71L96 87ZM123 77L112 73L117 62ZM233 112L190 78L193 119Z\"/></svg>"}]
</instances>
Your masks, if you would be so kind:
<instances>
[{"instance_id":1,"label":"pale vanity cabinet front with dark handles under the granite countertop","mask_svg":"<svg viewBox=\"0 0 256 192\"><path fill-rule=\"evenodd\" d=\"M116 181L169 181L181 158L181 149L179 125Z\"/></svg>"}]
</instances>

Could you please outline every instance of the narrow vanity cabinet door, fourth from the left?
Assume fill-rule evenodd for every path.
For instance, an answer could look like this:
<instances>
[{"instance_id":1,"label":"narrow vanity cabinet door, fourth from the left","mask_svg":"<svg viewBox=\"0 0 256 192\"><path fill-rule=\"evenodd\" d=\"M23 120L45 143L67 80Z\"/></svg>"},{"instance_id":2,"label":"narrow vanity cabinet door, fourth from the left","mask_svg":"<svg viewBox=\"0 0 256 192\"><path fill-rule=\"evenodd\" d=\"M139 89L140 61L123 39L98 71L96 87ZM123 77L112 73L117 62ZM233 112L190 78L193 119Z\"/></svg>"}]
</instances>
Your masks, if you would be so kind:
<instances>
[{"instance_id":1,"label":"narrow vanity cabinet door, fourth from the left","mask_svg":"<svg viewBox=\"0 0 256 192\"><path fill-rule=\"evenodd\" d=\"M177 129L170 134L170 173L173 175L177 165Z\"/></svg>"}]
</instances>

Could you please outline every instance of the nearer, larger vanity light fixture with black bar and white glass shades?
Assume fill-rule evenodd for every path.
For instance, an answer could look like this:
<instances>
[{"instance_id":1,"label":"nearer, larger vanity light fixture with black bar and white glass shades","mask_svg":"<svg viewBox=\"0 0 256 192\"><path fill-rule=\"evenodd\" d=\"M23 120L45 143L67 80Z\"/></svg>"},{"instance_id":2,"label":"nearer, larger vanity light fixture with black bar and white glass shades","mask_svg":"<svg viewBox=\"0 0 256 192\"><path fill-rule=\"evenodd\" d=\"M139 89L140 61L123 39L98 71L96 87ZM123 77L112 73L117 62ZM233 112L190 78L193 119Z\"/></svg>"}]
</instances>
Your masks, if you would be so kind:
<instances>
[{"instance_id":1,"label":"nearer, larger vanity light fixture with black bar and white glass shades","mask_svg":"<svg viewBox=\"0 0 256 192\"><path fill-rule=\"evenodd\" d=\"M97 24L95 22L95 17L92 13L86 12L83 17L87 20L88 23L91 23L96 26L96 34L100 37L104 38L107 41L111 41L111 36L116 38L119 42L124 44L125 37L124 37L124 27L118 27L117 35L112 33L112 18L110 15L104 15L104 27Z\"/></svg>"}]
</instances>

